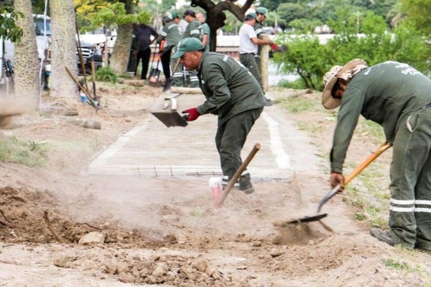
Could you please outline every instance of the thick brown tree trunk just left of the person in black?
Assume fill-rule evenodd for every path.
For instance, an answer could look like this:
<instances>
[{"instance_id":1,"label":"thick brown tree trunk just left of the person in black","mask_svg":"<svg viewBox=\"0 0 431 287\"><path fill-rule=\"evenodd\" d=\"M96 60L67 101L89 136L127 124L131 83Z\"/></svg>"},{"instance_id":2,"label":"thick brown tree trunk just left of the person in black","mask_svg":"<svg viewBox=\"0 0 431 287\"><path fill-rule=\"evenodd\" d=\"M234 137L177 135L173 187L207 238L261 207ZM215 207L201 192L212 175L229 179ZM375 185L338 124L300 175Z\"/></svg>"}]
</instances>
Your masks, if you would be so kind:
<instances>
[{"instance_id":1,"label":"thick brown tree trunk just left of the person in black","mask_svg":"<svg viewBox=\"0 0 431 287\"><path fill-rule=\"evenodd\" d=\"M124 8L126 9L126 14L133 13L132 0L121 0L120 2L125 4ZM132 25L130 23L118 25L117 39L115 40L115 47L110 59L110 66L117 74L124 74L126 72L129 61L130 45L132 43L131 35Z\"/></svg>"}]
</instances>

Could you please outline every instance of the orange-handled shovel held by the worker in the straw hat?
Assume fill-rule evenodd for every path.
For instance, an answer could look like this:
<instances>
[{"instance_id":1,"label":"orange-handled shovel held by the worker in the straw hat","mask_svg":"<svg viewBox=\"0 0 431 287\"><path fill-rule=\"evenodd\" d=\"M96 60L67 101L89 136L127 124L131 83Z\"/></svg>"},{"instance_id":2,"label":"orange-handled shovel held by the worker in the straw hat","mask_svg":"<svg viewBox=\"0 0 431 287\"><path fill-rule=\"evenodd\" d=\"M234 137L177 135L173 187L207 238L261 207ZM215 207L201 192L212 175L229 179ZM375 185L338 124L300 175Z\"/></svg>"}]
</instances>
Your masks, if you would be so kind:
<instances>
[{"instance_id":1,"label":"orange-handled shovel held by the worker in the straw hat","mask_svg":"<svg viewBox=\"0 0 431 287\"><path fill-rule=\"evenodd\" d=\"M389 144L387 142L384 142L381 144L381 146L373 153L371 154L366 160L364 160L360 165L358 165L355 170L349 174L344 179L344 185L346 186L354 177L356 177L361 171L363 171L370 163L372 163L383 151L391 147L392 144ZM319 202L319 207L317 209L318 215L315 216L307 216L304 218L298 218L295 220L288 221L287 223L299 223L299 222L311 222L320 220L323 217L326 217L326 213L319 214L323 204L325 204L332 196L334 196L341 188L341 185L338 184L336 187L334 187L331 191L329 191Z\"/></svg>"}]
</instances>

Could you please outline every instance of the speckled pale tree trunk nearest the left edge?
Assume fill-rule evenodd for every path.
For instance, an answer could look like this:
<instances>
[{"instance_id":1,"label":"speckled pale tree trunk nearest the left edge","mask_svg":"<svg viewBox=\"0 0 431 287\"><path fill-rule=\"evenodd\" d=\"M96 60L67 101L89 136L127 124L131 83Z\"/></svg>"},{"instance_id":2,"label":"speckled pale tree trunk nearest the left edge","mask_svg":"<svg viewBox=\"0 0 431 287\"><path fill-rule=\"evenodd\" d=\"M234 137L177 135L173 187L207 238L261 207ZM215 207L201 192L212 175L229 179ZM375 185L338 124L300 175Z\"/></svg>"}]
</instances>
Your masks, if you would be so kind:
<instances>
[{"instance_id":1,"label":"speckled pale tree trunk nearest the left edge","mask_svg":"<svg viewBox=\"0 0 431 287\"><path fill-rule=\"evenodd\" d=\"M19 17L16 23L22 27L23 35L15 46L15 98L29 101L36 108L40 103L41 81L31 1L15 0L13 7L24 14L24 18Z\"/></svg>"}]
</instances>

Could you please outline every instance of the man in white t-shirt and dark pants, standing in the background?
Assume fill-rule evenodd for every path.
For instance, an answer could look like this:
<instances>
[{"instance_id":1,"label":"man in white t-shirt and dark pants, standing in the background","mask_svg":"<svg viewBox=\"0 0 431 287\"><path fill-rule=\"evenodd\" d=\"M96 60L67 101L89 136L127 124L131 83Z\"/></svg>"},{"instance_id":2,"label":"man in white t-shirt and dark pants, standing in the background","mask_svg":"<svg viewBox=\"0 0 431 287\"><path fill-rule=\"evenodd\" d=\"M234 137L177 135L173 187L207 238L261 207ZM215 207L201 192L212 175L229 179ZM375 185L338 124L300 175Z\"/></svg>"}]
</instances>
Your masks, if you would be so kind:
<instances>
[{"instance_id":1,"label":"man in white t-shirt and dark pants, standing in the background","mask_svg":"<svg viewBox=\"0 0 431 287\"><path fill-rule=\"evenodd\" d=\"M248 13L244 18L244 24L239 29L239 60L250 73L256 78L261 90L263 91L260 65L257 63L259 45L271 45L270 39L259 39L256 36L254 25L256 24L257 15L255 12ZM272 105L272 102L265 101L266 106Z\"/></svg>"}]
</instances>

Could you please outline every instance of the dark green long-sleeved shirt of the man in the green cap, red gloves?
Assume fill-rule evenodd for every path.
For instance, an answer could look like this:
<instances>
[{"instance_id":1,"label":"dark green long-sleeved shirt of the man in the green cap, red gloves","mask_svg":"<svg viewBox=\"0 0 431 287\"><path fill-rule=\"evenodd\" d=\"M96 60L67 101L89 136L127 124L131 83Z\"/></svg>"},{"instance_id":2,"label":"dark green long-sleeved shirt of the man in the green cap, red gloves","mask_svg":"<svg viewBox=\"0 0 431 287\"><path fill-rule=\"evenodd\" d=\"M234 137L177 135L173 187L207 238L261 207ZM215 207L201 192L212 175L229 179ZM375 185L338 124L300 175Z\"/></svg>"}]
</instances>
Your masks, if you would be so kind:
<instances>
[{"instance_id":1,"label":"dark green long-sleeved shirt of the man in the green cap, red gloves","mask_svg":"<svg viewBox=\"0 0 431 287\"><path fill-rule=\"evenodd\" d=\"M232 116L265 105L264 93L256 79L232 57L203 52L198 77L206 101L197 109L201 114L218 112L219 126Z\"/></svg>"}]
</instances>

